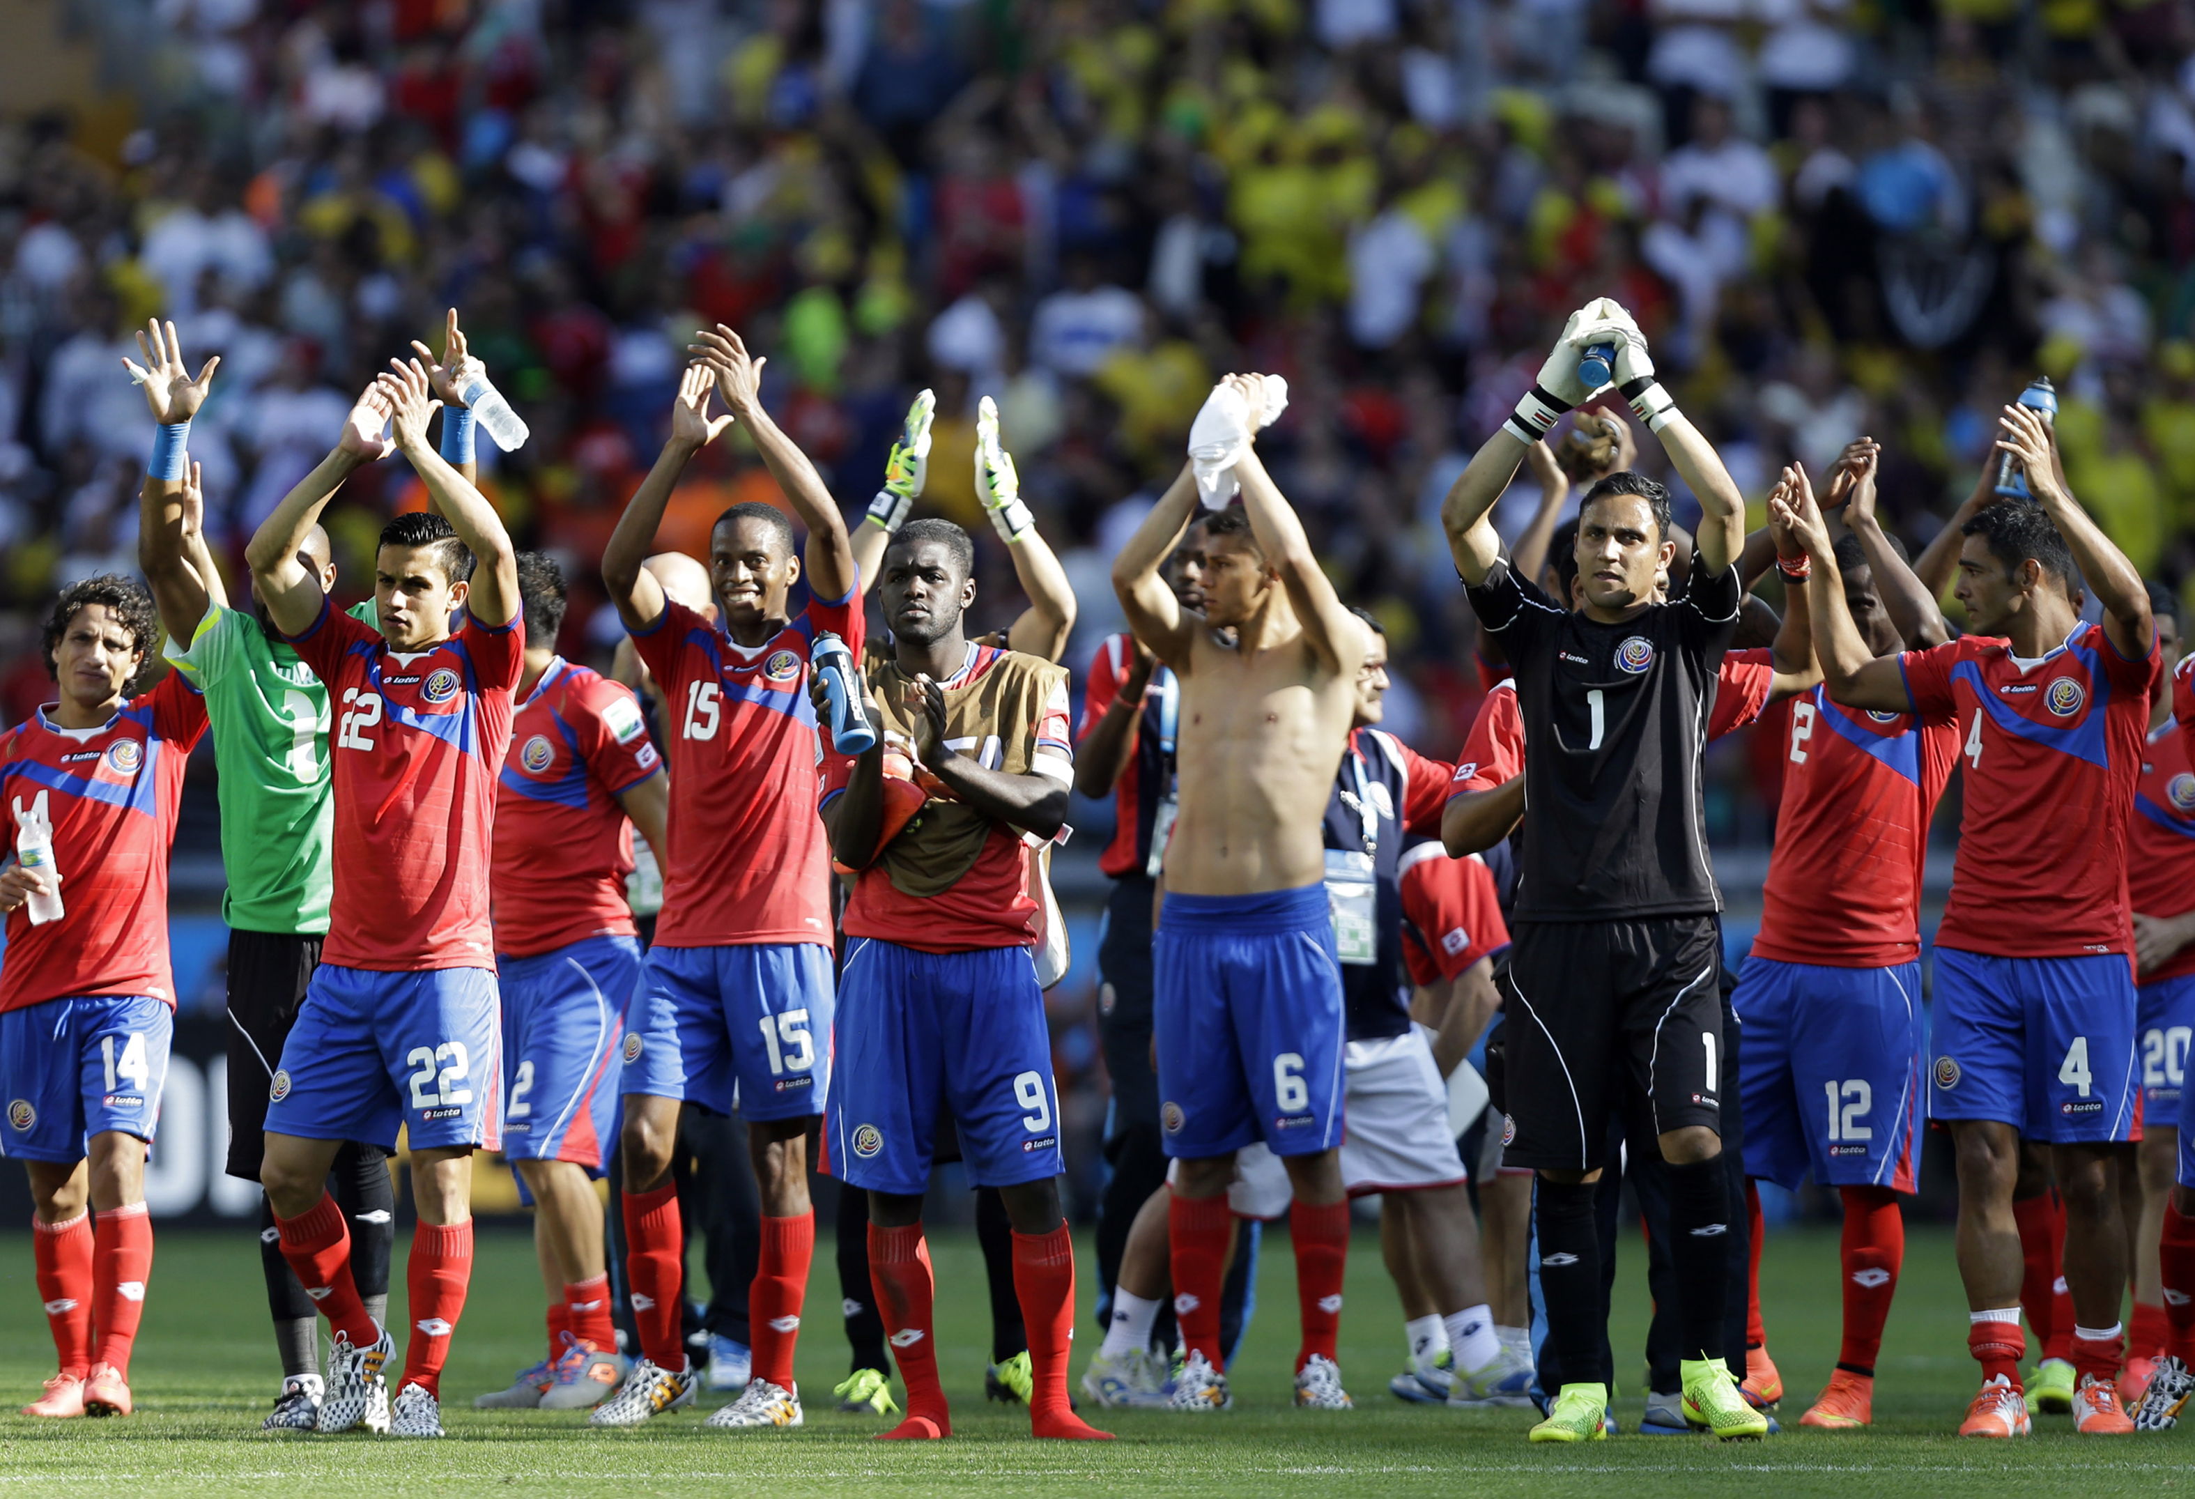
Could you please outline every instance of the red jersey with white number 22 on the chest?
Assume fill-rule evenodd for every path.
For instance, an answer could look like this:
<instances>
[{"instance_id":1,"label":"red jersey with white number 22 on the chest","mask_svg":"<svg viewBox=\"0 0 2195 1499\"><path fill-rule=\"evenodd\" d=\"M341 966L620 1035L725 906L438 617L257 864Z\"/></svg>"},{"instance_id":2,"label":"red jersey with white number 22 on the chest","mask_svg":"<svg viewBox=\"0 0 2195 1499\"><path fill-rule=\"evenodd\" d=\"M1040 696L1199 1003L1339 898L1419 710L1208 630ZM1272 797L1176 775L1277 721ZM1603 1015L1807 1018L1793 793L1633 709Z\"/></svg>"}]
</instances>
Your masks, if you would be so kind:
<instances>
[{"instance_id":1,"label":"red jersey with white number 22 on the chest","mask_svg":"<svg viewBox=\"0 0 2195 1499\"><path fill-rule=\"evenodd\" d=\"M419 972L494 968L487 852L496 768L511 742L525 621L463 628L395 652L320 599L292 636L336 715L336 893L320 961Z\"/></svg>"}]
</instances>

